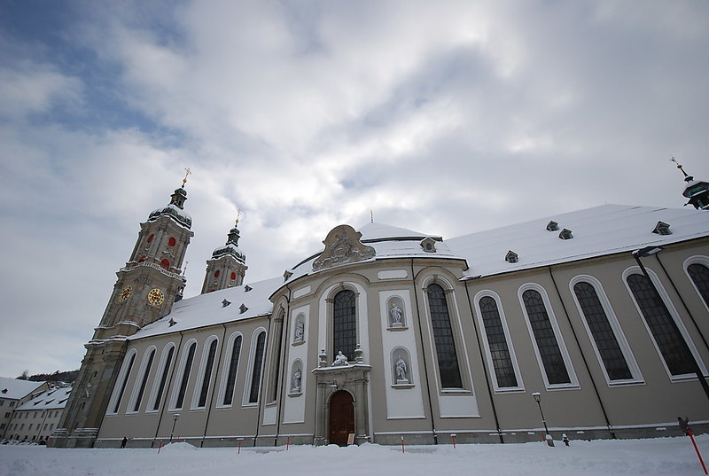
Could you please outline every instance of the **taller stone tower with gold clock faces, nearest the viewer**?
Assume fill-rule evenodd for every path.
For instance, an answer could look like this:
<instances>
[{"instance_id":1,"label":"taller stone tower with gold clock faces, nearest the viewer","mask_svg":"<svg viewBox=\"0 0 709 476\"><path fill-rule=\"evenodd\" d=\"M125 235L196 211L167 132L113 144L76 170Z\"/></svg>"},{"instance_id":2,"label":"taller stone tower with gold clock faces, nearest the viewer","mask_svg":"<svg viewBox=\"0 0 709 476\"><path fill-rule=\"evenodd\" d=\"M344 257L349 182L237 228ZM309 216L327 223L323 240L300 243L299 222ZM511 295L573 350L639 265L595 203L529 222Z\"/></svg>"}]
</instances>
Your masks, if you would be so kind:
<instances>
[{"instance_id":1,"label":"taller stone tower with gold clock faces, nearest the viewer","mask_svg":"<svg viewBox=\"0 0 709 476\"><path fill-rule=\"evenodd\" d=\"M175 300L182 298L185 279L181 268L194 236L192 219L183 210L187 199L185 183L187 176L170 197L168 206L153 210L140 224L133 253L116 273L118 279L104 316L84 346L81 370L49 446L93 445L126 353L126 339L144 325L166 316Z\"/></svg>"}]
</instances>

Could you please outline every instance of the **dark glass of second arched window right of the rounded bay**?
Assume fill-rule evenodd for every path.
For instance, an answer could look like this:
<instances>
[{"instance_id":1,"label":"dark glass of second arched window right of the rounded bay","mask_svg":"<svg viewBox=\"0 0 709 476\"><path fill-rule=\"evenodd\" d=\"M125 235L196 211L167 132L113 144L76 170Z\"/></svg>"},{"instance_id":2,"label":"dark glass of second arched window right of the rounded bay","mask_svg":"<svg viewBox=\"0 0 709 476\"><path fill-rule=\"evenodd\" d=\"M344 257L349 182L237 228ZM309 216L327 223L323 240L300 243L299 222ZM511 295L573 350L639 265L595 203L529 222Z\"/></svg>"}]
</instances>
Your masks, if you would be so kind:
<instances>
[{"instance_id":1,"label":"dark glass of second arched window right of the rounded bay","mask_svg":"<svg viewBox=\"0 0 709 476\"><path fill-rule=\"evenodd\" d=\"M571 384L572 380L566 369L564 355L561 353L557 334L554 332L541 293L534 289L527 289L522 293L522 301L549 385Z\"/></svg>"}]
</instances>

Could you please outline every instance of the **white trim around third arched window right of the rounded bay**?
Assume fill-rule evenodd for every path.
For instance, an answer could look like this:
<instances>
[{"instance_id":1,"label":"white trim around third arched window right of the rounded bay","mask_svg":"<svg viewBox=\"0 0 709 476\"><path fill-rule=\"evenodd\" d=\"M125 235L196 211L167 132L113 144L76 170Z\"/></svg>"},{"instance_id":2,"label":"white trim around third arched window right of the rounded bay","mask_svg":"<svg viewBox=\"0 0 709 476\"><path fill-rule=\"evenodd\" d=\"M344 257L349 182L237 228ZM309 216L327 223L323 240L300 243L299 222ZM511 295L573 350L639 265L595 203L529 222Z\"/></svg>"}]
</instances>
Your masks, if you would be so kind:
<instances>
[{"instance_id":1,"label":"white trim around third arched window right of the rounded bay","mask_svg":"<svg viewBox=\"0 0 709 476\"><path fill-rule=\"evenodd\" d=\"M588 326L586 315L583 314L583 309L581 308L579 299L576 297L576 292L573 290L574 285L577 285L578 283L582 282L588 283L588 285L592 285L593 288L596 290L596 296L598 296L598 300L601 302L601 307L604 309L605 316L608 319L608 324L611 325L611 329L613 331L613 334L615 335L615 339L618 342L618 346L620 347L620 352L626 359L627 368L630 371L630 375L632 375L632 378L612 380L608 376L608 371L605 368L604 360L601 357L601 353L598 350L598 347L596 346L596 339L594 339L593 333L591 333L591 328ZM571 291L571 295L573 296L573 302L576 303L576 308L579 310L581 323L583 323L583 328L586 329L588 339L591 341L591 346L593 347L594 353L596 354L598 364L600 365L601 370L604 372L606 384L608 386L627 386L644 384L645 381L643 378L643 373L640 371L640 367L638 366L637 361L635 360L635 355L633 355L633 350L630 348L630 344L627 343L625 332L623 332L623 329L620 326L618 316L615 315L615 312L613 311L611 305L611 300L608 299L608 296L606 295L604 290L604 286L601 285L601 282L596 279L596 277L592 277L589 275L575 276L572 278L571 281L569 281L569 291Z\"/></svg>"}]
</instances>

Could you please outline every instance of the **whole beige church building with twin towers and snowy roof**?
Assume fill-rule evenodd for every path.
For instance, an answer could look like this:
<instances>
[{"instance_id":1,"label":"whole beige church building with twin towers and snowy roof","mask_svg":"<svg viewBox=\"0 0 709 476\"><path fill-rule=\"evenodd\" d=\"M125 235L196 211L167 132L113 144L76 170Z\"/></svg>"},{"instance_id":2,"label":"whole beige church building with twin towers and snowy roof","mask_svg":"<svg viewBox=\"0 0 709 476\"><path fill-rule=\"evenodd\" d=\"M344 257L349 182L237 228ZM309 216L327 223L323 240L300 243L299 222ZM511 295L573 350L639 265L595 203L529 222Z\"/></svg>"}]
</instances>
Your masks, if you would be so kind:
<instances>
[{"instance_id":1,"label":"whole beige church building with twin towers and snowy roof","mask_svg":"<svg viewBox=\"0 0 709 476\"><path fill-rule=\"evenodd\" d=\"M184 199L141 225L51 446L709 431L705 211L606 205L450 239L339 225L254 283L235 227L180 299Z\"/></svg>"}]
</instances>

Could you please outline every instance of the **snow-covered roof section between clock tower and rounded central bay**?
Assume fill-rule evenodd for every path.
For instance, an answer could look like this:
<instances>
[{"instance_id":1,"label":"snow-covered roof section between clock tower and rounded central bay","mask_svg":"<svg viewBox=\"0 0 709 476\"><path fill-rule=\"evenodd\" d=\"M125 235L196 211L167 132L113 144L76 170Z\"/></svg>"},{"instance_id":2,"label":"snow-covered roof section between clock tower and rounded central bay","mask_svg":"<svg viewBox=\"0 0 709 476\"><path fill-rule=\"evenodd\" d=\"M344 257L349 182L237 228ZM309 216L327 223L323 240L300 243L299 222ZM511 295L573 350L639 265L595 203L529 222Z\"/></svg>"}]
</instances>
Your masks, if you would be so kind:
<instances>
[{"instance_id":1,"label":"snow-covered roof section between clock tower and rounded central bay","mask_svg":"<svg viewBox=\"0 0 709 476\"><path fill-rule=\"evenodd\" d=\"M250 317L269 316L273 310L269 296L282 284L283 277L273 277L179 300L175 302L168 316L146 325L129 340L230 323ZM224 300L229 302L227 306L223 305ZM243 308L245 311L242 312ZM175 324L170 324L170 321Z\"/></svg>"}]
</instances>

